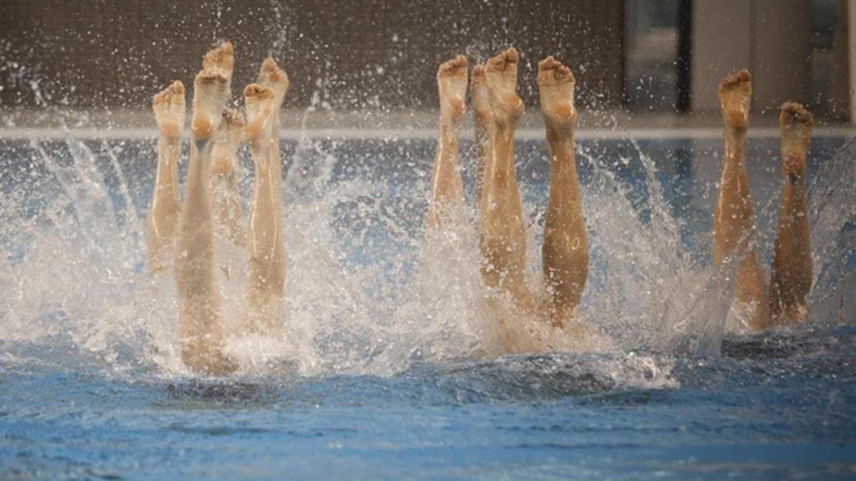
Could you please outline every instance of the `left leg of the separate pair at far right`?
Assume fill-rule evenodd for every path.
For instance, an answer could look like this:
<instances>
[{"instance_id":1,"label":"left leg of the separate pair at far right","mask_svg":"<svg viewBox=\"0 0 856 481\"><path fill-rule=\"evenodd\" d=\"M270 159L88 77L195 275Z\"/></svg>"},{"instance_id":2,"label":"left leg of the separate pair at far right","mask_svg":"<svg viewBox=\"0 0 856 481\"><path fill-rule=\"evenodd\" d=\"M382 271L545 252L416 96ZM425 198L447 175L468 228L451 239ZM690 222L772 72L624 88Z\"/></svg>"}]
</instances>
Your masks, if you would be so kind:
<instances>
[{"instance_id":1,"label":"left leg of the separate pair at far right","mask_svg":"<svg viewBox=\"0 0 856 481\"><path fill-rule=\"evenodd\" d=\"M753 329L762 329L768 319L767 302L764 281L758 270L752 197L743 163L751 97L751 76L746 70L729 75L719 85L725 122L725 157L713 219L713 258L722 262L729 255L744 256L737 270L734 298L741 308L748 309L748 324Z\"/></svg>"}]
</instances>

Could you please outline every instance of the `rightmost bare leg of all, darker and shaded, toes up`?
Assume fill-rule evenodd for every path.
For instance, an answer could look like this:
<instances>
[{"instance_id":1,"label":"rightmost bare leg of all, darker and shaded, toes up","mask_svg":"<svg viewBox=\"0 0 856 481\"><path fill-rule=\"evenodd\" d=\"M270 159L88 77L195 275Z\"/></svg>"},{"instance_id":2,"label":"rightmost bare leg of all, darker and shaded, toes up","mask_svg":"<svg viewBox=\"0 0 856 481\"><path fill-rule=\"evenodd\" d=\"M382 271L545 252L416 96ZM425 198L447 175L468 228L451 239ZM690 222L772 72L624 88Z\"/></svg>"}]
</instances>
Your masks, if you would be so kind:
<instances>
[{"instance_id":1,"label":"rightmost bare leg of all, darker and shaded, toes up","mask_svg":"<svg viewBox=\"0 0 856 481\"><path fill-rule=\"evenodd\" d=\"M770 311L774 322L794 323L808 313L811 289L811 239L805 196L805 156L811 139L811 113L800 104L782 104L782 207L770 277Z\"/></svg>"}]
</instances>

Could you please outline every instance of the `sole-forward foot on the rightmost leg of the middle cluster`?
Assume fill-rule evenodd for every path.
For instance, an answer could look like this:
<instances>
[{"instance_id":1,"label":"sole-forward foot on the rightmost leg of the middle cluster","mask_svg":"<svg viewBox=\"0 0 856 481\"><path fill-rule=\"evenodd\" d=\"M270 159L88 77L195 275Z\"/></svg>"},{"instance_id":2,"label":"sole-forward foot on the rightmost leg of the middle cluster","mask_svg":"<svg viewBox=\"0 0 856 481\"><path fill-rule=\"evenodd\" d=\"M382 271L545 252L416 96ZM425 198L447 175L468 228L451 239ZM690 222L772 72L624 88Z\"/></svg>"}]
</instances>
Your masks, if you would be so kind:
<instances>
[{"instance_id":1,"label":"sole-forward foot on the rightmost leg of the middle cluster","mask_svg":"<svg viewBox=\"0 0 856 481\"><path fill-rule=\"evenodd\" d=\"M552 56L538 62L538 93L547 127L557 133L574 133L577 111L574 109L574 74Z\"/></svg>"}]
</instances>

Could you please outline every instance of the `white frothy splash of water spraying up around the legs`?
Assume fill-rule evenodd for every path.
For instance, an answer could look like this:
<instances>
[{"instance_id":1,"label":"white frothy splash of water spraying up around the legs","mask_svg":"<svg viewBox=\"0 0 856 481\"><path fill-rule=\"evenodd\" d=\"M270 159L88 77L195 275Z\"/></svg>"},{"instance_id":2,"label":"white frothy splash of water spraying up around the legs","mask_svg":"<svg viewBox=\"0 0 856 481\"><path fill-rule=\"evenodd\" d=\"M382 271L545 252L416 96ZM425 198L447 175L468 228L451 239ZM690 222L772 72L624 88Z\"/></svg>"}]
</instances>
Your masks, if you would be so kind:
<instances>
[{"instance_id":1,"label":"white frothy splash of water spraying up around the legs","mask_svg":"<svg viewBox=\"0 0 856 481\"><path fill-rule=\"evenodd\" d=\"M27 174L23 181L4 181L0 194L0 341L6 360L187 374L173 335L174 287L169 276L153 279L144 268L151 175L138 177L152 166L152 144L86 142L69 133L58 143L19 141L4 149L8 169ZM693 260L680 219L670 215L656 163L632 145L644 202L631 200L633 186L603 158L580 149L588 172L584 199L592 258L580 312L605 334L585 342L551 330L538 336L560 351L715 355L733 272ZM853 145L849 141L816 175L852 178ZM389 375L414 362L491 352L496 323L477 308L487 293L479 280L474 229L445 229L426 238L425 179L411 172L401 180L407 169L377 167L399 155L427 163L430 151L430 142L411 140L300 140L284 189L286 327L274 339L229 338L229 352L246 373ZM242 175L242 184L251 181L249 169ZM841 298L842 266L853 252L847 228L856 205L852 196L835 182L812 184L814 302ZM536 279L543 212L532 204L526 208ZM473 215L461 212L461 224L473 225ZM235 331L246 254L224 242L217 247L218 262L234 269L220 276L220 287L227 328ZM829 312L820 312L829 321ZM520 323L539 329L525 319Z\"/></svg>"}]
</instances>

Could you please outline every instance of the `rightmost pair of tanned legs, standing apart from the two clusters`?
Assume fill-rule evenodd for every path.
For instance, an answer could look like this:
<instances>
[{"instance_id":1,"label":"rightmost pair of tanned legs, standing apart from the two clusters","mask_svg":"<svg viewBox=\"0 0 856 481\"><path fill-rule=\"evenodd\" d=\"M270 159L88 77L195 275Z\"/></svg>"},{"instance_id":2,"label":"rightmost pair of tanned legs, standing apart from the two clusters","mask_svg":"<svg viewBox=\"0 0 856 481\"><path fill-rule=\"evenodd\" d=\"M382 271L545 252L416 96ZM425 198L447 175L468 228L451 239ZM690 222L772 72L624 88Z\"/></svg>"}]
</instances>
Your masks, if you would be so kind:
<instances>
[{"instance_id":1,"label":"rightmost pair of tanned legs, standing apart from the two clusters","mask_svg":"<svg viewBox=\"0 0 856 481\"><path fill-rule=\"evenodd\" d=\"M725 155L716 196L713 258L741 257L734 279L734 299L752 329L805 318L811 289L811 242L805 197L805 156L811 137L811 114L800 104L782 104L782 204L769 288L758 269L752 197L744 163L752 78L746 70L729 75L719 86L725 124Z\"/></svg>"}]
</instances>

